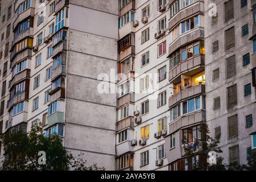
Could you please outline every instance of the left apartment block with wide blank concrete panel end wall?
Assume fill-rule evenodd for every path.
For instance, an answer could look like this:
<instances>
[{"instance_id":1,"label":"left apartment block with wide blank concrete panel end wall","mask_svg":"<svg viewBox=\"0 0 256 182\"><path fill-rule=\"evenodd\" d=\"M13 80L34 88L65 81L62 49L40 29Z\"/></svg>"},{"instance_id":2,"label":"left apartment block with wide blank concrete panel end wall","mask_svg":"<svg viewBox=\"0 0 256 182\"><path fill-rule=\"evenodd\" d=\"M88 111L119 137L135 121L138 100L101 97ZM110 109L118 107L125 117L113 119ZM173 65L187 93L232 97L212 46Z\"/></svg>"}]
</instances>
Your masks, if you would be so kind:
<instances>
[{"instance_id":1,"label":"left apartment block with wide blank concrete panel end wall","mask_svg":"<svg viewBox=\"0 0 256 182\"><path fill-rule=\"evenodd\" d=\"M1 132L26 132L41 122L46 137L59 135L68 151L85 154L88 165L113 170L116 96L96 90L97 76L117 69L118 3L0 5Z\"/></svg>"}]
</instances>

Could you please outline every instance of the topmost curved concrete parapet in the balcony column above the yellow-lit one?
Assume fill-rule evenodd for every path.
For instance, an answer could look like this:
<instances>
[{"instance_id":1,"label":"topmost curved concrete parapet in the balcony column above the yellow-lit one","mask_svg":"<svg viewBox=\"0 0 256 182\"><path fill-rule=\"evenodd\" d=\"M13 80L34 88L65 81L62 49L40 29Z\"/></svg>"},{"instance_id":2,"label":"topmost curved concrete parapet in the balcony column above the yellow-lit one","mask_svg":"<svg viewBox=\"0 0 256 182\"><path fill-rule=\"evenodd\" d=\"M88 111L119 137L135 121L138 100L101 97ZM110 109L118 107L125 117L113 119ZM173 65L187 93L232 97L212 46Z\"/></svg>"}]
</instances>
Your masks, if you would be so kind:
<instances>
[{"instance_id":1,"label":"topmost curved concrete parapet in the balcony column above the yellow-lit one","mask_svg":"<svg viewBox=\"0 0 256 182\"><path fill-rule=\"evenodd\" d=\"M196 14L200 13L204 13L204 2L201 1L193 3L192 5L181 9L178 13L172 16L168 25L168 30L172 30L172 28L174 28L178 23L182 22L186 18L192 15L195 16Z\"/></svg>"}]
</instances>

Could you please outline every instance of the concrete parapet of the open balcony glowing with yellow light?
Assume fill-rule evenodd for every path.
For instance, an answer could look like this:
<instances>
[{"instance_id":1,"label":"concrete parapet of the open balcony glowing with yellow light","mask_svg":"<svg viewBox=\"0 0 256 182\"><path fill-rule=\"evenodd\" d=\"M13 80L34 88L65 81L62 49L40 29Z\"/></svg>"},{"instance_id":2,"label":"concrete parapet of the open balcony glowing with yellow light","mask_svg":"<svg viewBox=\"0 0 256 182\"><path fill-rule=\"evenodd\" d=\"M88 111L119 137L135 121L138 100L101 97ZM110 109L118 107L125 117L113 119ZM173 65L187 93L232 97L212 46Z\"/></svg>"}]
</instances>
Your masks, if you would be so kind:
<instances>
[{"instance_id":1,"label":"concrete parapet of the open balcony glowing with yellow light","mask_svg":"<svg viewBox=\"0 0 256 182\"><path fill-rule=\"evenodd\" d=\"M205 93L205 85L198 84L182 90L179 93L174 94L169 98L169 107L174 106L178 102L181 102L189 97L198 96Z\"/></svg>"}]
</instances>

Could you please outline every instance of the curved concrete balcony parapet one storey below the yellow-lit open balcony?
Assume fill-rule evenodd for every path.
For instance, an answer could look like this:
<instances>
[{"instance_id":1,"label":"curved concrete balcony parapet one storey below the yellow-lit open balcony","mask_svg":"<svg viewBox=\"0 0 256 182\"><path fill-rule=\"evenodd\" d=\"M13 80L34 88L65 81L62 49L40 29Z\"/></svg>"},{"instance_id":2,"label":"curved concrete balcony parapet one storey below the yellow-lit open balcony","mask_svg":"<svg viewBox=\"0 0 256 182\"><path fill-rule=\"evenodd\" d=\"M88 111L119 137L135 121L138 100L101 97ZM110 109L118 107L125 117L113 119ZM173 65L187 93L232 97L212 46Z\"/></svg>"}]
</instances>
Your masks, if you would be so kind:
<instances>
[{"instance_id":1,"label":"curved concrete balcony parapet one storey below the yellow-lit open balcony","mask_svg":"<svg viewBox=\"0 0 256 182\"><path fill-rule=\"evenodd\" d=\"M193 113L183 115L169 125L169 133L172 134L182 129L183 127L204 122L205 119L205 110L198 110Z\"/></svg>"}]
</instances>

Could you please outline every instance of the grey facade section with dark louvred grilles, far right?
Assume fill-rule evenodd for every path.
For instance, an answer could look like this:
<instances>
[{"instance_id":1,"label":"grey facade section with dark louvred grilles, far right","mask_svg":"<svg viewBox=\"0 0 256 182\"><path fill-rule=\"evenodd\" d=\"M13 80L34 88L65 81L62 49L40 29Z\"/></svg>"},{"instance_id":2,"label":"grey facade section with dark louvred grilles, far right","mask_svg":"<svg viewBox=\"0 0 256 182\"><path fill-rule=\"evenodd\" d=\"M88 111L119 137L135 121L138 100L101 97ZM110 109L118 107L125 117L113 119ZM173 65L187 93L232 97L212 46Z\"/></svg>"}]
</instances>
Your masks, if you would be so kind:
<instances>
[{"instance_id":1,"label":"grey facade section with dark louvred grilles, far right","mask_svg":"<svg viewBox=\"0 0 256 182\"><path fill-rule=\"evenodd\" d=\"M205 1L206 120L224 163L247 164L256 146L256 1ZM207 15L207 16L206 16Z\"/></svg>"}]
</instances>

